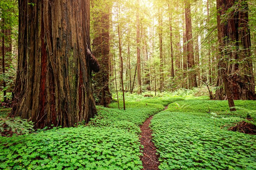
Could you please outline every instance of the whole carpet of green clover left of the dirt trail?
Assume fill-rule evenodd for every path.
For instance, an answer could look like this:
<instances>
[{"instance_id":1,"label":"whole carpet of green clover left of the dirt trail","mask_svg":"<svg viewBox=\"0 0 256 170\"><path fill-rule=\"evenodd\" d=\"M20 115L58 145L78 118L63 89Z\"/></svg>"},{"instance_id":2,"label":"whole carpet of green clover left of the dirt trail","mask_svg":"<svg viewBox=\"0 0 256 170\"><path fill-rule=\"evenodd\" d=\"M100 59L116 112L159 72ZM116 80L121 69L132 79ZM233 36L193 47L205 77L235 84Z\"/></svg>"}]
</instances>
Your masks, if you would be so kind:
<instances>
[{"instance_id":1,"label":"whole carpet of green clover left of the dirt trail","mask_svg":"<svg viewBox=\"0 0 256 170\"><path fill-rule=\"evenodd\" d=\"M127 102L125 111L109 106L97 106L86 126L0 137L0 169L141 169L139 126L163 105Z\"/></svg>"}]
</instances>

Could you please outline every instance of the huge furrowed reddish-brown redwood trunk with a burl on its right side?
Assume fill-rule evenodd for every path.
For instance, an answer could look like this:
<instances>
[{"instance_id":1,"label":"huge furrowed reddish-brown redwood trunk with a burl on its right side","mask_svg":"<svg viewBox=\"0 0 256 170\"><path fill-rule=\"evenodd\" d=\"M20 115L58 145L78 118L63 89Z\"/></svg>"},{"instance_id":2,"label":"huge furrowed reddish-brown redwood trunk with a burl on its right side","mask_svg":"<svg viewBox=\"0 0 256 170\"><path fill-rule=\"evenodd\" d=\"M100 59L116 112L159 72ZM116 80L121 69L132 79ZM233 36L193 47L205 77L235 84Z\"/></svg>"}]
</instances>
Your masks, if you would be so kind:
<instances>
[{"instance_id":1,"label":"huge furrowed reddish-brown redwood trunk with a burl on its right side","mask_svg":"<svg viewBox=\"0 0 256 170\"><path fill-rule=\"evenodd\" d=\"M74 126L94 117L91 72L99 64L89 27L89 0L19 0L14 116L35 128Z\"/></svg>"}]
</instances>

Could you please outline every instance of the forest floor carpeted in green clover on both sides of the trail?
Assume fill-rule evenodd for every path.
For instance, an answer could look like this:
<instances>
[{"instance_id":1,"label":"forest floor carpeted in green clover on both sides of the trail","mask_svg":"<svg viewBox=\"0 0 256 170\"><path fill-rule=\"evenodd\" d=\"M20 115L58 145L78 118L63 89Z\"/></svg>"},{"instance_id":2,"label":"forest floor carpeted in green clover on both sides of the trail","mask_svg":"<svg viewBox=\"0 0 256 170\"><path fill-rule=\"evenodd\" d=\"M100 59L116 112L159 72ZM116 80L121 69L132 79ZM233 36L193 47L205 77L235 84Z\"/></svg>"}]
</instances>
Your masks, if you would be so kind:
<instances>
[{"instance_id":1,"label":"forest floor carpeted in green clover on both sides of the trail","mask_svg":"<svg viewBox=\"0 0 256 170\"><path fill-rule=\"evenodd\" d=\"M0 137L0 169L256 169L256 136L228 131L255 120L255 101L230 113L207 96L126 96L87 125Z\"/></svg>"}]
</instances>

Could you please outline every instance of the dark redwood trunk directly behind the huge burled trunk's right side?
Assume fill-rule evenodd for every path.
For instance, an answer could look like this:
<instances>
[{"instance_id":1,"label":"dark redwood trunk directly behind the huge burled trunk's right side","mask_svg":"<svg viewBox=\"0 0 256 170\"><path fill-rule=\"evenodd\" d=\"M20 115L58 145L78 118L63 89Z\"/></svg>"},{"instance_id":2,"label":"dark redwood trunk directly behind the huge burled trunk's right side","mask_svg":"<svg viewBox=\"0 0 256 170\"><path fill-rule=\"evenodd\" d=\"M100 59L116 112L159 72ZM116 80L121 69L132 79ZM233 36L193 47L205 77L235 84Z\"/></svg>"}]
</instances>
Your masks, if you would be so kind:
<instances>
[{"instance_id":1,"label":"dark redwood trunk directly behind the huge burled trunk's right side","mask_svg":"<svg viewBox=\"0 0 256 170\"><path fill-rule=\"evenodd\" d=\"M99 8L95 5L93 8ZM101 7L102 8L102 7ZM93 40L93 54L101 63L101 70L95 75L94 93L99 98L96 104L108 106L112 97L109 91L109 7L106 6L94 18L97 37ZM97 30L97 31L96 31Z\"/></svg>"}]
</instances>

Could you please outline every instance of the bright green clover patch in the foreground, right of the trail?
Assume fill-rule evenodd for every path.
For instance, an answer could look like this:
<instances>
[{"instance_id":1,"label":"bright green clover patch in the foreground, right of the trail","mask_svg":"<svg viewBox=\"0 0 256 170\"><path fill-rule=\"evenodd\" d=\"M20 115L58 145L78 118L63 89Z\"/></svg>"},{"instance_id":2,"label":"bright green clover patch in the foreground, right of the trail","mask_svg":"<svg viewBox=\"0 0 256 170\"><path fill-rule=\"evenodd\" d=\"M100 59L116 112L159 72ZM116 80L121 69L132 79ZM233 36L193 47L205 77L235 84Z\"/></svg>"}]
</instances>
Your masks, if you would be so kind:
<instances>
[{"instance_id":1,"label":"bright green clover patch in the foreground, right of the trail","mask_svg":"<svg viewBox=\"0 0 256 170\"><path fill-rule=\"evenodd\" d=\"M166 110L156 114L151 128L160 154L159 168L256 169L256 137L220 130L228 122L212 119L208 113Z\"/></svg>"}]
</instances>

